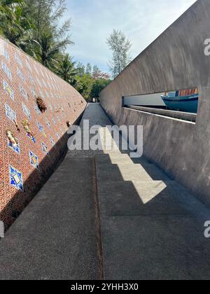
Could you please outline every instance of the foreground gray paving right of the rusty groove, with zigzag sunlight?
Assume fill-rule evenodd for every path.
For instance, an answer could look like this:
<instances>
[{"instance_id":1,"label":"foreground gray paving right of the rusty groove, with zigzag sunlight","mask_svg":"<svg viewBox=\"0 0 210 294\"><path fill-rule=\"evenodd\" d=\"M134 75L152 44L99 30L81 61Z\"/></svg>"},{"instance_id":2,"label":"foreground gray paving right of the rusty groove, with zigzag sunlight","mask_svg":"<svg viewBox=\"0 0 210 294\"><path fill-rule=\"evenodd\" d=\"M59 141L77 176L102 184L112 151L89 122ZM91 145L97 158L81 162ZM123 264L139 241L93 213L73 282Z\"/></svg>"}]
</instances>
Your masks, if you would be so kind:
<instances>
[{"instance_id":1,"label":"foreground gray paving right of the rusty groove, with zigzag sunlight","mask_svg":"<svg viewBox=\"0 0 210 294\"><path fill-rule=\"evenodd\" d=\"M145 159L95 162L104 278L209 279L209 209Z\"/></svg>"}]
</instances>

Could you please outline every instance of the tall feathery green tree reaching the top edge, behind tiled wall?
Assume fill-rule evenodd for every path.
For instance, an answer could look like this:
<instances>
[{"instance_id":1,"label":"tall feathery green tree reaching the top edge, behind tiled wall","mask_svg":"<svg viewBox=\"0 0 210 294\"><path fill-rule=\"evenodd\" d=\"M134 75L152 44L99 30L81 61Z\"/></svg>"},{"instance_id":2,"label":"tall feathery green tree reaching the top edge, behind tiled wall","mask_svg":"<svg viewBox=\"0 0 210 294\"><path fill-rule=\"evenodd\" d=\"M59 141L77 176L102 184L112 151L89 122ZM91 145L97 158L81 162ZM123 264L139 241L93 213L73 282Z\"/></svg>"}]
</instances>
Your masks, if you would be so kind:
<instances>
[{"instance_id":1,"label":"tall feathery green tree reaching the top edge, behind tiled wall","mask_svg":"<svg viewBox=\"0 0 210 294\"><path fill-rule=\"evenodd\" d=\"M57 53L60 55L67 45L73 44L69 37L70 20L60 25L60 19L66 10L66 0L25 1L24 13L32 25L20 46L46 66L49 66L48 59L54 64L55 60L52 59L55 59ZM48 54L45 54L46 51ZM49 67L53 69L52 64Z\"/></svg>"}]
</instances>

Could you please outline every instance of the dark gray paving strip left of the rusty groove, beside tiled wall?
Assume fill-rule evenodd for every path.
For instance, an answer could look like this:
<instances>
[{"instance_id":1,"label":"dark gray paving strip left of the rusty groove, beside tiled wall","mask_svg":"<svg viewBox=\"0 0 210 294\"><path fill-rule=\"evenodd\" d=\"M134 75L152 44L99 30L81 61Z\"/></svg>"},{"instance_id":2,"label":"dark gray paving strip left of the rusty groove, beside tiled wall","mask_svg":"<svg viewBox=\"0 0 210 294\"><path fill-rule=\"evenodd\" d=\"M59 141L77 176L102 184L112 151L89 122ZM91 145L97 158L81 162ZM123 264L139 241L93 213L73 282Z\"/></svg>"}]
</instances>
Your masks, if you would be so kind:
<instances>
[{"instance_id":1,"label":"dark gray paving strip left of the rusty groove, beside tiled wall","mask_svg":"<svg viewBox=\"0 0 210 294\"><path fill-rule=\"evenodd\" d=\"M66 158L0 241L0 279L99 279L92 158Z\"/></svg>"}]
</instances>

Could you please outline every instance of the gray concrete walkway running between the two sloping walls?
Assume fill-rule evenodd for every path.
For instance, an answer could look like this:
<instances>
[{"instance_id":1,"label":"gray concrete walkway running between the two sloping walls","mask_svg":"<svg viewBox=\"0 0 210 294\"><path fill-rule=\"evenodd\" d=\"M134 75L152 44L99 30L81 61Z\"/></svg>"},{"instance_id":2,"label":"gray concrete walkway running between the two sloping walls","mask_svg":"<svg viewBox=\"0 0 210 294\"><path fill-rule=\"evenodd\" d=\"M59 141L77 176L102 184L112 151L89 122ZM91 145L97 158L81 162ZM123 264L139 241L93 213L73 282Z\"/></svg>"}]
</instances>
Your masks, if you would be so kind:
<instances>
[{"instance_id":1,"label":"gray concrete walkway running between the two sloping walls","mask_svg":"<svg viewBox=\"0 0 210 294\"><path fill-rule=\"evenodd\" d=\"M111 124L98 104L88 118L101 131ZM0 279L210 279L207 220L209 209L145 158L69 151L0 241Z\"/></svg>"}]
</instances>

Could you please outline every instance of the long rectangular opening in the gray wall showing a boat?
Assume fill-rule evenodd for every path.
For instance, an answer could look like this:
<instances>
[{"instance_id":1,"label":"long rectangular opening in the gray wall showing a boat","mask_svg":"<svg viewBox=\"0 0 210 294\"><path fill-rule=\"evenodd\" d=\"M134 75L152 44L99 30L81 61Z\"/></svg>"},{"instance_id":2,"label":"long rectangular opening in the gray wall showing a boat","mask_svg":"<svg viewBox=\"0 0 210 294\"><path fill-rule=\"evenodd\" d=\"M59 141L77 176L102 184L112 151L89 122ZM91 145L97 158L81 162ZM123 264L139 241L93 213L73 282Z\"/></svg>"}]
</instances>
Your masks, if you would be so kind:
<instances>
[{"instance_id":1,"label":"long rectangular opening in the gray wall showing a boat","mask_svg":"<svg viewBox=\"0 0 210 294\"><path fill-rule=\"evenodd\" d=\"M197 87L123 97L123 106L195 123L200 95Z\"/></svg>"}]
</instances>

